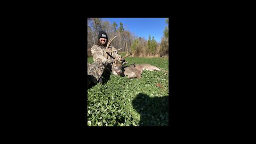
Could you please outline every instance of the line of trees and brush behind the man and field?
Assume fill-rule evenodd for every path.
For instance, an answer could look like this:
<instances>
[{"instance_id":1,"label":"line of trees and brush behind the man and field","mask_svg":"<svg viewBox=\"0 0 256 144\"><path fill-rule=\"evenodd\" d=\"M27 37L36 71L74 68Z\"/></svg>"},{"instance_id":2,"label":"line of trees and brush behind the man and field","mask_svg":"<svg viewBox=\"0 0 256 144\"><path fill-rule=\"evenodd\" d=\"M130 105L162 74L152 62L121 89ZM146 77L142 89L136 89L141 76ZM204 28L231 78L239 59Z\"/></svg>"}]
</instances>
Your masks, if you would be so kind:
<instances>
[{"instance_id":1,"label":"line of trees and brush behind the man and field","mask_svg":"<svg viewBox=\"0 0 256 144\"><path fill-rule=\"evenodd\" d=\"M165 21L169 25L169 19ZM98 42L98 33L100 30L106 31L108 39L117 36L111 43L112 46L123 49L119 52L126 52L126 43L128 50L135 57L163 57L169 56L169 28L165 27L161 43L157 43L154 36L149 35L148 39L131 34L125 30L123 23L119 25L116 22L110 24L109 21L102 21L101 18L87 18L87 57L91 56L91 47Z\"/></svg>"}]
</instances>

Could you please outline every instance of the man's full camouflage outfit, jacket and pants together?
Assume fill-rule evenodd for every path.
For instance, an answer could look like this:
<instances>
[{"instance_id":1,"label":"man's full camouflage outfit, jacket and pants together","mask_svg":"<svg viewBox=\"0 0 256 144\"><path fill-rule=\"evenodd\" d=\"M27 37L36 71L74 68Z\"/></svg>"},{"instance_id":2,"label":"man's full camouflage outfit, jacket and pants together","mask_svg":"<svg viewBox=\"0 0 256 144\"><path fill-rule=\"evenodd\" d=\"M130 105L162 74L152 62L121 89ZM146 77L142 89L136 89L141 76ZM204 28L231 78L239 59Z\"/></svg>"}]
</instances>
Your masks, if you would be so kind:
<instances>
[{"instance_id":1,"label":"man's full camouflage outfit, jacket and pants together","mask_svg":"<svg viewBox=\"0 0 256 144\"><path fill-rule=\"evenodd\" d=\"M112 58L106 53L106 47L93 45L91 52L93 55L93 63L87 63L87 78L90 79L94 84L97 84L102 75L110 74L111 65L106 66L105 62ZM108 51L116 50L115 47L109 46ZM118 52L109 53L114 58L118 57Z\"/></svg>"}]
</instances>

